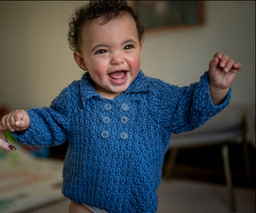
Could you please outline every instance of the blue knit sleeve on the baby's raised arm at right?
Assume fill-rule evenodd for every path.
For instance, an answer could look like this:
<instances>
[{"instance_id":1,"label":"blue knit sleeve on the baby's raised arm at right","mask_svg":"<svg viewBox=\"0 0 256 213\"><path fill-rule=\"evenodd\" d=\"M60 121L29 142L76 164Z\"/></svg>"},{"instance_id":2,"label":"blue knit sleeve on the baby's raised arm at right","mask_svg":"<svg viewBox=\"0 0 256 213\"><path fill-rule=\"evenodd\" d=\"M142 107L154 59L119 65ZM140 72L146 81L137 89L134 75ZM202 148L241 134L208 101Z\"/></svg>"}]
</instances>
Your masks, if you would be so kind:
<instances>
[{"instance_id":1,"label":"blue knit sleeve on the baby's raised arm at right","mask_svg":"<svg viewBox=\"0 0 256 213\"><path fill-rule=\"evenodd\" d=\"M156 119L171 133L178 134L198 128L213 115L228 106L231 89L226 99L218 106L212 103L209 87L208 72L200 78L199 83L178 87L173 85L161 86L156 93Z\"/></svg>"}]
</instances>

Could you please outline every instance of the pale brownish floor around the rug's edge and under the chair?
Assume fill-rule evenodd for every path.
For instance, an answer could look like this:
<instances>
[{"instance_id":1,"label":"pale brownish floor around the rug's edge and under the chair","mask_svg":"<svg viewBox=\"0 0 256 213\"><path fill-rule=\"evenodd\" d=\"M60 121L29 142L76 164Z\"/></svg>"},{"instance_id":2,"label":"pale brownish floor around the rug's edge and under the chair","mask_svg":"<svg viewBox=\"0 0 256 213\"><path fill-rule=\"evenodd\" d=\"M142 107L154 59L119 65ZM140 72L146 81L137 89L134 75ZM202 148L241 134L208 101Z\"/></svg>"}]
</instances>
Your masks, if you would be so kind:
<instances>
[{"instance_id":1,"label":"pale brownish floor around the rug's edge and under the chair","mask_svg":"<svg viewBox=\"0 0 256 213\"><path fill-rule=\"evenodd\" d=\"M236 213L255 213L255 191L236 187ZM158 189L157 213L228 213L225 185L201 183L191 180L163 179ZM69 201L26 211L26 213L68 213ZM25 212L24 212L25 213Z\"/></svg>"}]
</instances>

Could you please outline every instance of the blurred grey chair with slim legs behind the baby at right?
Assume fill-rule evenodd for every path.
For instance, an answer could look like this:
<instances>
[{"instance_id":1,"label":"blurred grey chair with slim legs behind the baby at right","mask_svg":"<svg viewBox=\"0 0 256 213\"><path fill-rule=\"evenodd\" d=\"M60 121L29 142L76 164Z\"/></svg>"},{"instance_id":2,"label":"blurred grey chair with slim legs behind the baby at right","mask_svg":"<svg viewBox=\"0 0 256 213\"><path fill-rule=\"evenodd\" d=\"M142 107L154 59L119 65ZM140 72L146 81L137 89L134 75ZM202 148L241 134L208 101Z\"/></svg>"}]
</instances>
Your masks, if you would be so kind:
<instances>
[{"instance_id":1,"label":"blurred grey chair with slim legs behind the baby at right","mask_svg":"<svg viewBox=\"0 0 256 213\"><path fill-rule=\"evenodd\" d=\"M242 143L247 179L251 179L250 159L246 138L248 124L246 114L248 109L244 106L228 106L220 114L191 132L173 135L170 144L170 155L165 164L165 177L171 177L178 150L195 146L221 145L221 155L225 178L228 186L228 202L232 211L236 210L236 198L232 185L232 176L228 156L228 144ZM250 115L251 117L251 115ZM254 117L255 118L255 117ZM253 119L255 122L255 120ZM251 124L249 124L251 125Z\"/></svg>"}]
</instances>

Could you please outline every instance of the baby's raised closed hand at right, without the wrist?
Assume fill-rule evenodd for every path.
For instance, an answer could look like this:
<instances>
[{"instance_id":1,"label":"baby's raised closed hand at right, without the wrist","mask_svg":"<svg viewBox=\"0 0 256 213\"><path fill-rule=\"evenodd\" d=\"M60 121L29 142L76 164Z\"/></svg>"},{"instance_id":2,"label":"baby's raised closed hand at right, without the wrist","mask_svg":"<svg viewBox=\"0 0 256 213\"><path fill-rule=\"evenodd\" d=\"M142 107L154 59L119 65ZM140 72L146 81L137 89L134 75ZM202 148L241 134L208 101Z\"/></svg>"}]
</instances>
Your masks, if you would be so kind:
<instances>
[{"instance_id":1,"label":"baby's raised closed hand at right, without the wrist","mask_svg":"<svg viewBox=\"0 0 256 213\"><path fill-rule=\"evenodd\" d=\"M217 52L209 65L210 86L215 89L228 90L242 64L230 59L228 55Z\"/></svg>"}]
</instances>

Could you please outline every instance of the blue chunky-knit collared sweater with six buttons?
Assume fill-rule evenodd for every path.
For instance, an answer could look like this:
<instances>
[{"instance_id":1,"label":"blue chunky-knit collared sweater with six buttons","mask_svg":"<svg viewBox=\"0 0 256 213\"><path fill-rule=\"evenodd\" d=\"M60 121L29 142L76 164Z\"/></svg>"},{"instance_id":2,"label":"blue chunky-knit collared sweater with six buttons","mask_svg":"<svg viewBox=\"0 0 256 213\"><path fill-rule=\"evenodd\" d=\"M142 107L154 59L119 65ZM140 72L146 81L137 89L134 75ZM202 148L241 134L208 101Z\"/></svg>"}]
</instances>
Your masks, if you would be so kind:
<instances>
[{"instance_id":1,"label":"blue chunky-knit collared sweater with six buttons","mask_svg":"<svg viewBox=\"0 0 256 213\"><path fill-rule=\"evenodd\" d=\"M28 110L29 129L13 133L32 146L68 139L62 193L109 213L155 213L156 189L172 133L194 130L228 105L214 106L206 72L199 83L177 87L140 71L127 91L102 99L85 73L52 101Z\"/></svg>"}]
</instances>

